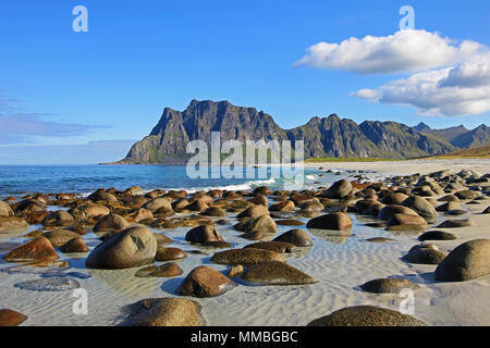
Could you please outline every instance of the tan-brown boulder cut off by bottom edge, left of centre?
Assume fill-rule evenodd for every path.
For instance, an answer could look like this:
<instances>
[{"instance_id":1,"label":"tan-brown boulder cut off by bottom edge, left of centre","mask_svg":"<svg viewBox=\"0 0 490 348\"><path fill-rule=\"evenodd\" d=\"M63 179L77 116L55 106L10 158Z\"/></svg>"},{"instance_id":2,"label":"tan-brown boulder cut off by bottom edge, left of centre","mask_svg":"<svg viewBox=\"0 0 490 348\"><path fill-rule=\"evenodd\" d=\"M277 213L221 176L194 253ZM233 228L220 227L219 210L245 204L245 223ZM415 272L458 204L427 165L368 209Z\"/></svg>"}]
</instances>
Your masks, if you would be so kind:
<instances>
[{"instance_id":1,"label":"tan-brown boulder cut off by bottom edge, left of centre","mask_svg":"<svg viewBox=\"0 0 490 348\"><path fill-rule=\"evenodd\" d=\"M199 303L184 298L150 298L130 306L122 326L204 326Z\"/></svg>"}]
</instances>

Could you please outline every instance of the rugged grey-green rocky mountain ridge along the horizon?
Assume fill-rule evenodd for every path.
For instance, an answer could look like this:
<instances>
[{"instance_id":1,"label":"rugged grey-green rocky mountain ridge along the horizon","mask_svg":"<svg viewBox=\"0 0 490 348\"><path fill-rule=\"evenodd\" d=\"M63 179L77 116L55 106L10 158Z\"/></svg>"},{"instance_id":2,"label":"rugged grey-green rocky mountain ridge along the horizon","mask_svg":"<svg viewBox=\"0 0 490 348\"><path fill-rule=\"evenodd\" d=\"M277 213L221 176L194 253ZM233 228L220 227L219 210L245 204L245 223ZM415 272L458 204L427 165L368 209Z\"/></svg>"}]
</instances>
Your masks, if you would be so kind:
<instances>
[{"instance_id":1,"label":"rugged grey-green rocky mountain ridge along the horizon","mask_svg":"<svg viewBox=\"0 0 490 348\"><path fill-rule=\"evenodd\" d=\"M193 100L184 111L170 108L151 133L131 148L118 163L185 164L192 140L210 144L211 132L221 133L221 141L295 140L305 141L305 158L387 158L404 159L436 156L458 150L444 133L425 125L409 127L396 122L341 119L336 114L313 117L305 125L283 129L273 117L255 108L235 107L228 101ZM481 127L481 128L480 128ZM482 125L465 133L449 132L455 144L490 142L490 130ZM420 130L418 130L420 129Z\"/></svg>"}]
</instances>

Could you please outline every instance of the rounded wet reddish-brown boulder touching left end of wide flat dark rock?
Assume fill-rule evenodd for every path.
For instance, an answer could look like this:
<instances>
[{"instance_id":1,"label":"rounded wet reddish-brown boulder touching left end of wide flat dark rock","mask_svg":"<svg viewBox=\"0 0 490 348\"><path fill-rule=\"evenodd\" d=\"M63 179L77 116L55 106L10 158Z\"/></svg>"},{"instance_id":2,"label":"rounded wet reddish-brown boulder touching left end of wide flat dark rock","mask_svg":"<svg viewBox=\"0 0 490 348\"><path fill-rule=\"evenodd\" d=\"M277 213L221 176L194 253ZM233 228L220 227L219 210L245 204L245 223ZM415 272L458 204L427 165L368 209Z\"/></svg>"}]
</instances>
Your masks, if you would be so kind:
<instances>
[{"instance_id":1,"label":"rounded wet reddish-brown boulder touching left end of wide flat dark rock","mask_svg":"<svg viewBox=\"0 0 490 348\"><path fill-rule=\"evenodd\" d=\"M179 294L181 296L215 297L236 287L236 283L206 265L195 268L185 277Z\"/></svg>"}]
</instances>

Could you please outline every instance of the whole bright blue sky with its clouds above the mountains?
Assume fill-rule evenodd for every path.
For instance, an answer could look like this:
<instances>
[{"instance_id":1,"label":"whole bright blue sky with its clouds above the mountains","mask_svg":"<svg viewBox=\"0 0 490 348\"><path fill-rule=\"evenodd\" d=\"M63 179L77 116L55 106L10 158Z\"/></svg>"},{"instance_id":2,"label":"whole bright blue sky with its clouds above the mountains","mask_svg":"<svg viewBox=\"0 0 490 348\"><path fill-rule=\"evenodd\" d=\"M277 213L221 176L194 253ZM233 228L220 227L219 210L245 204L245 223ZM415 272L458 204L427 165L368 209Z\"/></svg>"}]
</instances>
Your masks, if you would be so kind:
<instances>
[{"instance_id":1,"label":"whole bright blue sky with its clouds above the mountains","mask_svg":"<svg viewBox=\"0 0 490 348\"><path fill-rule=\"evenodd\" d=\"M490 120L489 33L488 0L4 0L0 164L119 160L193 99L283 128L332 113L474 128Z\"/></svg>"}]
</instances>

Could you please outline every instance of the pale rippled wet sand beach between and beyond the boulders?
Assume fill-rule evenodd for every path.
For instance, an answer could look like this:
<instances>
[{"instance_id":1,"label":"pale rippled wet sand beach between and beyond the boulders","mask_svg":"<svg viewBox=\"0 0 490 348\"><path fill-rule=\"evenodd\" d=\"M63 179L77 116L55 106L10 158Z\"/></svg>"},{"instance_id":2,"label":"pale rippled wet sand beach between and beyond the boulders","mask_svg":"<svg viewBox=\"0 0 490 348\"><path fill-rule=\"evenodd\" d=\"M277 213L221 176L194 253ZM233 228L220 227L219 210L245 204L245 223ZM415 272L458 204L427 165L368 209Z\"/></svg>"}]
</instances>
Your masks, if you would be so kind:
<instances>
[{"instance_id":1,"label":"pale rippled wet sand beach between and beyond the boulders","mask_svg":"<svg viewBox=\"0 0 490 348\"><path fill-rule=\"evenodd\" d=\"M342 171L365 171L367 177L388 177L390 175L428 174L440 170L462 169L490 173L489 160L452 160L452 161L403 161L372 163L315 163L307 167ZM321 172L316 174L321 185L324 179ZM357 172L344 173L339 176L353 181ZM331 181L331 178L330 178ZM431 197L434 199L440 198ZM475 204L462 202L465 213L456 219L470 219L471 226L461 228L436 228L439 223L448 220L439 213L437 221L425 231L442 229L451 232L457 239L429 241L443 252L450 252L458 245L478 238L490 238L490 215L481 214L488 207L488 200ZM50 209L56 210L56 207ZM188 214L188 213L187 213ZM183 214L185 215L185 214ZM179 214L181 216L181 214ZM359 285L385 277L405 278L419 285L415 291L415 312L413 316L428 325L490 325L488 308L490 306L490 276L482 276L468 282L442 283L433 279L436 264L415 264L402 261L401 258L415 245L420 233L389 232L384 227L367 226L379 222L378 219L348 213L353 221L352 234L348 237L334 237L320 229L309 232L313 247L286 254L286 262L306 274L315 277L318 283L301 286L250 286L235 279L238 286L232 290L210 298L193 298L201 304L203 315L207 325L306 325L314 319L329 314L335 310L357 306L372 304L399 310L404 298L399 294L370 294L359 288ZM211 217L213 221L218 217ZM303 223L309 217L295 216ZM451 217L452 219L452 217ZM233 248L243 248L250 240L241 237L233 228L236 213L230 213L226 224L218 229ZM28 231L39 228L32 225ZM172 238L172 247L187 252L187 258L176 261L183 270L181 276L136 277L140 268L126 270L87 270L86 254L69 254L59 252L63 260L70 262L71 270L90 275L89 278L77 279L81 287L88 294L88 314L73 313L76 298L72 291L32 291L15 287L15 284L38 278L34 272L0 273L0 308L12 308L25 313L28 320L24 325L117 325L124 320L127 312L125 306L144 298L179 297L179 288L185 276L197 265L205 264L228 274L229 266L213 263L210 258L217 252L210 247L189 245L184 236L188 227L173 229L149 227L154 233ZM264 240L270 240L294 227L278 226L277 234ZM28 232L27 231L27 232ZM0 234L0 247L8 250L7 243L25 243L26 232L16 234ZM373 237L385 237L392 240L385 243L367 241ZM100 240L98 235L89 232L84 236L87 246L93 249ZM199 250L201 253L193 253ZM161 264L158 263L157 264ZM12 263L2 261L1 270L11 268Z\"/></svg>"}]
</instances>

